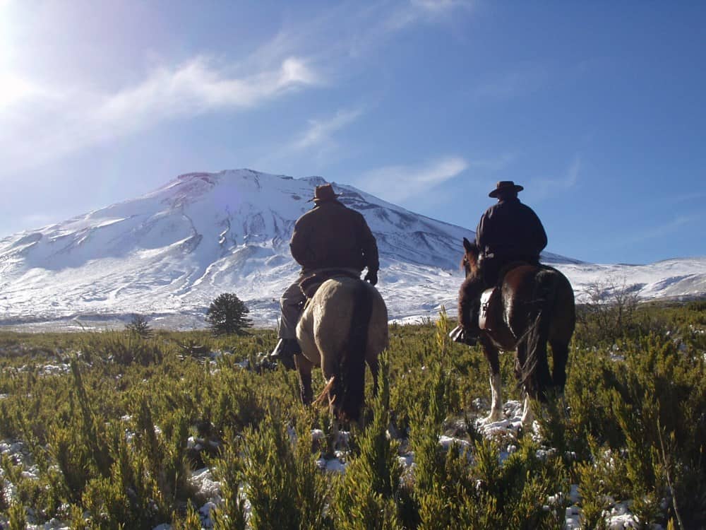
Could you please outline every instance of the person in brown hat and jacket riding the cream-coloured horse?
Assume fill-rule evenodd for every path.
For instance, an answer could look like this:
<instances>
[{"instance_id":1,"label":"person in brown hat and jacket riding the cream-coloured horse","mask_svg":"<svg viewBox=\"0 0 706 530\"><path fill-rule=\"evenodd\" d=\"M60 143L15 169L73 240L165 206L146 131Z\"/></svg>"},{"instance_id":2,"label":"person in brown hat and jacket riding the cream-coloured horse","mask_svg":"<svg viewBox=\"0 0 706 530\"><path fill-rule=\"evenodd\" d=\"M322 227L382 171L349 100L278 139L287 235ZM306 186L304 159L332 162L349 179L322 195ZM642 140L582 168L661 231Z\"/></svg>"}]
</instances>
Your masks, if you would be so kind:
<instances>
[{"instance_id":1,"label":"person in brown hat and jacket riding the cream-coloured horse","mask_svg":"<svg viewBox=\"0 0 706 530\"><path fill-rule=\"evenodd\" d=\"M367 267L365 281L378 283L378 245L364 217L347 208L333 192L331 184L317 186L314 207L294 224L289 242L292 257L301 265L297 281L285 290L280 299L282 319L280 341L270 353L270 359L280 359L285 367L294 369L294 355L301 353L297 343L297 322L306 297L300 283L313 274L347 273L360 278Z\"/></svg>"}]
</instances>

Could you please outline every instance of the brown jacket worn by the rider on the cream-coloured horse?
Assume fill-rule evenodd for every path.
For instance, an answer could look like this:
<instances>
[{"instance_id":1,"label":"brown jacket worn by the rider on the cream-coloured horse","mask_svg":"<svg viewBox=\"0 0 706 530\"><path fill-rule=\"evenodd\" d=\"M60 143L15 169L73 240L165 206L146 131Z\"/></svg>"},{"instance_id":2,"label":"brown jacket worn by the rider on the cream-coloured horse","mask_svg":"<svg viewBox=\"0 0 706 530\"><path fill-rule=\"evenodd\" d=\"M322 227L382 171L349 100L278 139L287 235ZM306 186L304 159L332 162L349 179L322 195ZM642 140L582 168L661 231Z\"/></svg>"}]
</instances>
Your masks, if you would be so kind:
<instances>
[{"instance_id":1,"label":"brown jacket worn by the rider on the cream-coloured horse","mask_svg":"<svg viewBox=\"0 0 706 530\"><path fill-rule=\"evenodd\" d=\"M339 201L321 201L294 224L292 257L302 273L313 269L380 269L378 245L368 223Z\"/></svg>"}]
</instances>

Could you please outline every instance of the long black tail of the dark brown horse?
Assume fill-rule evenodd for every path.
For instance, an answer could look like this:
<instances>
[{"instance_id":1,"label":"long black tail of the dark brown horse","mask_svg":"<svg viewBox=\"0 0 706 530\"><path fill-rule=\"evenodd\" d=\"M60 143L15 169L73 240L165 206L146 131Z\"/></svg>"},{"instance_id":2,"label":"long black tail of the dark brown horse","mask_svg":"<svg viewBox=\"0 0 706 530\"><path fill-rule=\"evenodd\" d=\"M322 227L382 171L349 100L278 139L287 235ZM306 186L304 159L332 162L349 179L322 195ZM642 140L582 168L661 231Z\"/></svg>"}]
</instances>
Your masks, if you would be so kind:
<instances>
[{"instance_id":1,"label":"long black tail of the dark brown horse","mask_svg":"<svg viewBox=\"0 0 706 530\"><path fill-rule=\"evenodd\" d=\"M552 387L546 343L549 340L558 277L551 270L540 270L535 276L530 323L525 336L525 363L520 366L522 383L533 399L546 401L546 391Z\"/></svg>"}]
</instances>

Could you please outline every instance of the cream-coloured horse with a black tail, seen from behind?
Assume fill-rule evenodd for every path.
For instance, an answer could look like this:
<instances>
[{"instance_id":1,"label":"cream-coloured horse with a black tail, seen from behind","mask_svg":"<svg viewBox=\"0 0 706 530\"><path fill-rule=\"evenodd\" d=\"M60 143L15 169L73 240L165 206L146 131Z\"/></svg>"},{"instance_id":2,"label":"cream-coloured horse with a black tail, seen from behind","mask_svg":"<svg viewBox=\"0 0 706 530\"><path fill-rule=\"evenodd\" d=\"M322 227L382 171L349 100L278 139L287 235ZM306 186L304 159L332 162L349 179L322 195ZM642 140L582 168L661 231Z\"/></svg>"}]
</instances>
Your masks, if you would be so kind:
<instances>
[{"instance_id":1,"label":"cream-coloured horse with a black tail, seen from behind","mask_svg":"<svg viewBox=\"0 0 706 530\"><path fill-rule=\"evenodd\" d=\"M357 421L365 394L365 363L378 385L378 355L388 346L388 310L378 290L356 278L326 280L297 324L301 401L312 401L311 369L321 367L335 418Z\"/></svg>"}]
</instances>

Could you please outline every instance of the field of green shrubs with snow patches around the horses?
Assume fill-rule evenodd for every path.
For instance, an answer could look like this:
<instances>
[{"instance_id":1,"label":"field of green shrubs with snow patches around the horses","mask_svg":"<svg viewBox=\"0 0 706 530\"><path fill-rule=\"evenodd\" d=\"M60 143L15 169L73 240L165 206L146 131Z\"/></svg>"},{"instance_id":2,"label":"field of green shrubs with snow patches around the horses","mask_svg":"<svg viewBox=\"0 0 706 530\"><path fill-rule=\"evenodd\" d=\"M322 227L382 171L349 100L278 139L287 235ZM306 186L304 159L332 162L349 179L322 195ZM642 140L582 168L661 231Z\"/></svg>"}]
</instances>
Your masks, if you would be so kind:
<instances>
[{"instance_id":1,"label":"field of green shrubs with snow patches around the horses","mask_svg":"<svg viewBox=\"0 0 706 530\"><path fill-rule=\"evenodd\" d=\"M319 469L328 411L299 404L296 374L251 369L274 331L0 333L0 522L200 529L209 499L191 475L208 467L217 529L561 529L571 485L585 528L621 500L645 528L706 526L705 302L580 312L568 413L538 410L539 436L479 433L488 368L449 326L390 327L345 473ZM520 399L513 363L503 383Z\"/></svg>"}]
</instances>

